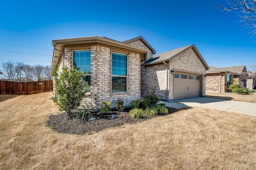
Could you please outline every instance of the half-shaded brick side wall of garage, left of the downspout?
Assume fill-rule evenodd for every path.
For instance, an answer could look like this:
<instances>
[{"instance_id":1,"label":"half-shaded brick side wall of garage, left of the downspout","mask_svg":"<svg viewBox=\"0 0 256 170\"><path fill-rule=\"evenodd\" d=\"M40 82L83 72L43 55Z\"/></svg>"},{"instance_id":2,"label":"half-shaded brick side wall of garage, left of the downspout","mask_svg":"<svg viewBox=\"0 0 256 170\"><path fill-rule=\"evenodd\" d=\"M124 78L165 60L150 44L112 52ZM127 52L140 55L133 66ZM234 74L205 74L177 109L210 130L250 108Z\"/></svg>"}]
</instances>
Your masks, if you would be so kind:
<instances>
[{"instance_id":1,"label":"half-shaded brick side wall of garage, left of the downspout","mask_svg":"<svg viewBox=\"0 0 256 170\"><path fill-rule=\"evenodd\" d=\"M141 67L141 96L155 91L160 99L166 98L166 65L155 64Z\"/></svg>"}]
</instances>

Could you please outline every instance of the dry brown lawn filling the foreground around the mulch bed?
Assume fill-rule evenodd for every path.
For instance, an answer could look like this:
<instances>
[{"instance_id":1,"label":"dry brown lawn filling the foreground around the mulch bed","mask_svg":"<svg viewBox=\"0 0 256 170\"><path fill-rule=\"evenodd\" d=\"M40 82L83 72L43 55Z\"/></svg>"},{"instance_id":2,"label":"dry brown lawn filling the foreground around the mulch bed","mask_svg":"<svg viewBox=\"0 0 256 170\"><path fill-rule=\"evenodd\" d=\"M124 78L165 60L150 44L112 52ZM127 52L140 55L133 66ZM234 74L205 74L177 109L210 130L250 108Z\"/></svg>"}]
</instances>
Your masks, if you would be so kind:
<instances>
[{"instance_id":1,"label":"dry brown lawn filling the foreground around the mulch bed","mask_svg":"<svg viewBox=\"0 0 256 170\"><path fill-rule=\"evenodd\" d=\"M0 169L256 169L256 117L195 107L66 135L46 127L50 96L0 102Z\"/></svg>"}]
</instances>

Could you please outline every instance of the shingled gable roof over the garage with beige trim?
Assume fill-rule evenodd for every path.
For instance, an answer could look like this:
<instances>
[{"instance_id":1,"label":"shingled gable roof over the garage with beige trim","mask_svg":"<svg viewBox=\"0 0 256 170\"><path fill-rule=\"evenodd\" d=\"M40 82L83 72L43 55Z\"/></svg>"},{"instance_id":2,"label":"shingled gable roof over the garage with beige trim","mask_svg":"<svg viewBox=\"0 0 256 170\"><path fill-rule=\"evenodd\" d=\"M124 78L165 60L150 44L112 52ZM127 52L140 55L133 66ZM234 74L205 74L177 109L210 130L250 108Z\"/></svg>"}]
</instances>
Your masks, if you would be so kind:
<instances>
[{"instance_id":1,"label":"shingled gable roof over the garage with beige trim","mask_svg":"<svg viewBox=\"0 0 256 170\"><path fill-rule=\"evenodd\" d=\"M164 61L172 61L175 57L184 53L188 49L193 49L194 50L194 52L197 54L197 56L200 59L200 61L202 62L202 64L204 64L206 70L208 70L209 66L206 64L202 55L196 49L194 44L188 45L188 46L185 46L185 47L181 47L181 48L178 48L178 49L174 49L172 51L167 51L165 53L160 53L160 54L154 55L154 57L152 59L150 59L148 61L145 61L143 63L143 65L146 66L146 65L153 65L153 64L163 63Z\"/></svg>"}]
</instances>

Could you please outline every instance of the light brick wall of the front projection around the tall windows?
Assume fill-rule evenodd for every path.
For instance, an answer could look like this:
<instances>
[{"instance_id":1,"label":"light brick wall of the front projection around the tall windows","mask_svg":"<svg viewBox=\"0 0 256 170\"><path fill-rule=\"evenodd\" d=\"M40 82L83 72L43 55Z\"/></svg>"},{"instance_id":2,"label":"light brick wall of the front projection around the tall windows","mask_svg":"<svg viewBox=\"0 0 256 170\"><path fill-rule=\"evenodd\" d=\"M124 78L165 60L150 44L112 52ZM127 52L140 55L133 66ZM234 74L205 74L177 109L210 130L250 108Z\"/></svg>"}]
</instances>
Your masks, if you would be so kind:
<instances>
[{"instance_id":1,"label":"light brick wall of the front projection around the tall windows","mask_svg":"<svg viewBox=\"0 0 256 170\"><path fill-rule=\"evenodd\" d=\"M72 60L73 52L66 47L65 66L72 66ZM113 104L112 107L116 107L116 100L119 98L124 100L124 106L130 106L132 100L140 99L140 55L127 55L127 92L112 93L111 81L112 49L99 45L91 46L91 91L86 94L80 106L89 105L99 109L100 102L108 100Z\"/></svg>"}]
</instances>

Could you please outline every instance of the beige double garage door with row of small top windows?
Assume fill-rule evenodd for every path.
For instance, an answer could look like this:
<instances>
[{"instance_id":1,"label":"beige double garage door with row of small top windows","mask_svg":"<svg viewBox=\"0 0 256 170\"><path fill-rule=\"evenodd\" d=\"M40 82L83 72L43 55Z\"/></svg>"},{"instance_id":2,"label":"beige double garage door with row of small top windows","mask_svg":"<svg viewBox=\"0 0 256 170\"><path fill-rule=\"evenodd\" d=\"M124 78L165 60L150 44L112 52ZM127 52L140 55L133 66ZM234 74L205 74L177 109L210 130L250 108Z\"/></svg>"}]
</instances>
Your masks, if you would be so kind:
<instances>
[{"instance_id":1,"label":"beige double garage door with row of small top windows","mask_svg":"<svg viewBox=\"0 0 256 170\"><path fill-rule=\"evenodd\" d=\"M200 97L200 75L174 73L174 100Z\"/></svg>"}]
</instances>

